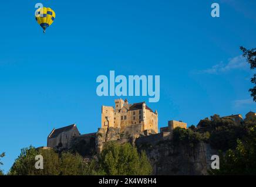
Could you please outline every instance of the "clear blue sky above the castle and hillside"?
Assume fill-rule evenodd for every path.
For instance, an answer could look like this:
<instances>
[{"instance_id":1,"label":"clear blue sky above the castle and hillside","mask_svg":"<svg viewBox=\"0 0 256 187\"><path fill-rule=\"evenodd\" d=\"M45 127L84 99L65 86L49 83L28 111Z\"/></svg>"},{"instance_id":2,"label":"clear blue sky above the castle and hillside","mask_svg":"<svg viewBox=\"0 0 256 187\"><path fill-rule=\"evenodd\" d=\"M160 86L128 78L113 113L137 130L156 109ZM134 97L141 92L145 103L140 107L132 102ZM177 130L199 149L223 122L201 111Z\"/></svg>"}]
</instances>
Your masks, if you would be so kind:
<instances>
[{"instance_id":1,"label":"clear blue sky above the castle and hillside","mask_svg":"<svg viewBox=\"0 0 256 187\"><path fill-rule=\"evenodd\" d=\"M43 34L35 4L56 12ZM220 18L211 4L220 3ZM0 152L8 171L21 148L46 146L53 127L100 127L96 77L160 75L160 101L147 103L188 125L256 109L239 46L256 47L256 1L5 1L0 30ZM148 97L126 97L130 103ZM125 98L123 98L125 99Z\"/></svg>"}]
</instances>

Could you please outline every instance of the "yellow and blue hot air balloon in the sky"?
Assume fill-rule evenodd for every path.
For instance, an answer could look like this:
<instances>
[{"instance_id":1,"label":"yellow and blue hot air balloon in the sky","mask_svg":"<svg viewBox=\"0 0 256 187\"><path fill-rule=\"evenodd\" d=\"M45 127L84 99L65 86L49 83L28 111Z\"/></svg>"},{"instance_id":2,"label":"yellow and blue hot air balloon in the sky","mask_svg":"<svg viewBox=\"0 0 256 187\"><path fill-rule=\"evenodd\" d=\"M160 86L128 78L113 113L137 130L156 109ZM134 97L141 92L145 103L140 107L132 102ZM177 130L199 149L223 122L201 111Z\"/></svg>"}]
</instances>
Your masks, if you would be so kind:
<instances>
[{"instance_id":1,"label":"yellow and blue hot air balloon in the sky","mask_svg":"<svg viewBox=\"0 0 256 187\"><path fill-rule=\"evenodd\" d=\"M55 12L50 8L39 8L36 10L36 21L43 28L43 33L45 33L45 29L52 25L55 20Z\"/></svg>"}]
</instances>

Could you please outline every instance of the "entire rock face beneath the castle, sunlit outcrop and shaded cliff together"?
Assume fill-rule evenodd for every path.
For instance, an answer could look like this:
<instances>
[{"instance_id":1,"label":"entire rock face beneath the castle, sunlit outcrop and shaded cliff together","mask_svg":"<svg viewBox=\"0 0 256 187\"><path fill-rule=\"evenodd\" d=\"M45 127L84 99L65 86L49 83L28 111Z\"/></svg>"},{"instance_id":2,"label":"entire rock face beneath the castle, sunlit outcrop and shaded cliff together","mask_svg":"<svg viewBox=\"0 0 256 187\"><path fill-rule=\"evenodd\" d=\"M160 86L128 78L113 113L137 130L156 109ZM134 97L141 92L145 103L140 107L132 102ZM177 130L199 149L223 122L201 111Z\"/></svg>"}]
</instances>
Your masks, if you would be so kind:
<instances>
[{"instance_id":1,"label":"entire rock face beneath the castle, sunlit outcrop and shaded cliff together","mask_svg":"<svg viewBox=\"0 0 256 187\"><path fill-rule=\"evenodd\" d=\"M209 144L200 141L190 144L175 143L171 132L158 134L130 134L119 128L99 128L97 133L85 134L73 139L73 150L83 157L92 158L102 151L107 141L119 144L131 143L139 151L144 150L153 166L154 175L207 175L211 156L217 155Z\"/></svg>"}]
</instances>

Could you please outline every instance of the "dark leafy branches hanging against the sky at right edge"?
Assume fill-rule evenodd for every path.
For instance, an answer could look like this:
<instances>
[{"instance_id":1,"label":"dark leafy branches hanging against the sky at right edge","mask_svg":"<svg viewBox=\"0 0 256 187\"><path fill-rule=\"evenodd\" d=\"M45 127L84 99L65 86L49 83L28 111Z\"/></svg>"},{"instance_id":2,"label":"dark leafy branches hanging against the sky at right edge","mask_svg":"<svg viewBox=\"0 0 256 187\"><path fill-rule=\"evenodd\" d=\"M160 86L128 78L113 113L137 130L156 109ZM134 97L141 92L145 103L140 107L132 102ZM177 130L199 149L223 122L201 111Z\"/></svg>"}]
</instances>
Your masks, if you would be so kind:
<instances>
[{"instance_id":1,"label":"dark leafy branches hanging against the sky at right edge","mask_svg":"<svg viewBox=\"0 0 256 187\"><path fill-rule=\"evenodd\" d=\"M240 50L242 51L242 56L246 58L247 62L251 66L251 70L254 70L256 68L256 48L247 50L245 47L240 47ZM251 92L251 96L256 102L256 74L254 74L254 77L251 78L252 84L254 84L254 88L249 89Z\"/></svg>"}]
</instances>

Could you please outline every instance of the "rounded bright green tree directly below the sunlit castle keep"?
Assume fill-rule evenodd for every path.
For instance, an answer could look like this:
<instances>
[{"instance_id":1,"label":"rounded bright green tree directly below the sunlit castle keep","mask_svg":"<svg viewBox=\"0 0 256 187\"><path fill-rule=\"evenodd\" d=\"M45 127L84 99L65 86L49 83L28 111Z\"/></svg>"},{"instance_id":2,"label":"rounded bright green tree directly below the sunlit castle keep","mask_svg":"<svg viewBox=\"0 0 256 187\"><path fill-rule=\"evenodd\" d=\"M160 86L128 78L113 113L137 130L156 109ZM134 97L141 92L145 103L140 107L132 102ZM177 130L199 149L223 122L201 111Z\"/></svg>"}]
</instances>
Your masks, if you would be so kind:
<instances>
[{"instance_id":1,"label":"rounded bright green tree directly below the sunlit castle keep","mask_svg":"<svg viewBox=\"0 0 256 187\"><path fill-rule=\"evenodd\" d=\"M144 151L141 154L129 143L109 142L92 163L92 174L99 175L150 175L152 167Z\"/></svg>"}]
</instances>

